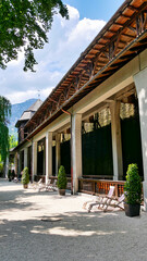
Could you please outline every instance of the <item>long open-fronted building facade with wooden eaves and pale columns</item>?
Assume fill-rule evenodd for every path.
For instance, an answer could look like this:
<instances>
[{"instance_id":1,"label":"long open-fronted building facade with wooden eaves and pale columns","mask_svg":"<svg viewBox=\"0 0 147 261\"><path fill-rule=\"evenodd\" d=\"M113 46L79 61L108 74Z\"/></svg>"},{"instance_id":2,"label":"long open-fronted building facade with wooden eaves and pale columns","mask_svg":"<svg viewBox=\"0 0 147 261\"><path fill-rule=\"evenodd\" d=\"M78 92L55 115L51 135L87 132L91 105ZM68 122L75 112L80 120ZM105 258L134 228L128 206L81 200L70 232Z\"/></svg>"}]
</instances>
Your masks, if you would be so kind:
<instances>
[{"instance_id":1,"label":"long open-fronted building facade with wooden eaves and pale columns","mask_svg":"<svg viewBox=\"0 0 147 261\"><path fill-rule=\"evenodd\" d=\"M24 166L28 165L28 158L32 159L32 179L39 170L47 182L58 173L64 154L61 141L68 137L71 146L65 157L71 158L70 174L73 192L76 192L78 178L88 167L85 167L88 162L86 152L89 150L89 157L95 153L94 144L99 148L99 158L91 166L99 164L101 175L112 174L113 181L122 181L126 163L136 163L139 158L147 209L146 100L147 1L126 0L23 126L27 136L14 150L15 162L21 170L22 154ZM101 115L106 112L107 123L102 123L101 117L105 116ZM83 136L82 133L91 123L97 125L101 138L90 147L84 147L84 140L87 141L90 134ZM108 135L105 136L106 133ZM106 149L102 152L105 146L109 146L111 151ZM109 167L102 165L102 159L112 162L112 166L109 164L110 173ZM89 175L90 172L95 171L89 170Z\"/></svg>"}]
</instances>

